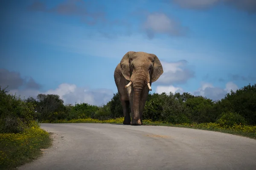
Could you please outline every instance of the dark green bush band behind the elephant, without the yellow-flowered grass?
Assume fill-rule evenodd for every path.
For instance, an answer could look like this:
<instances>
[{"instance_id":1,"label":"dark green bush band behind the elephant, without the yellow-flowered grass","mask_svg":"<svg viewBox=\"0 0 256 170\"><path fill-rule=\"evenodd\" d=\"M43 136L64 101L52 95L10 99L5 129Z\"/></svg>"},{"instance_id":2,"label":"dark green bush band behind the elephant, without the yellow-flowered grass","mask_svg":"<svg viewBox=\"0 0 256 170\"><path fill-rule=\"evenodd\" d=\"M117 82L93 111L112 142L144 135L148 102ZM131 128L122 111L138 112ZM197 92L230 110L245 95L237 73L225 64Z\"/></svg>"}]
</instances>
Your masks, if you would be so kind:
<instances>
[{"instance_id":1,"label":"dark green bush band behind the elephant, without the yellow-flowered grass","mask_svg":"<svg viewBox=\"0 0 256 170\"><path fill-rule=\"evenodd\" d=\"M27 120L106 120L123 116L118 93L113 94L113 98L103 106L87 103L64 105L63 100L54 94L38 94L36 99L29 97L23 102L1 90L0 97L3 98L0 101L1 115L5 113L5 116L1 116L1 121L4 122L1 129L12 132L22 131L28 124ZM239 113L247 124L256 125L256 85L249 84L235 92L231 91L224 99L218 101L189 93L149 93L143 110L143 119L175 124L210 123L220 121L223 113Z\"/></svg>"}]
</instances>

